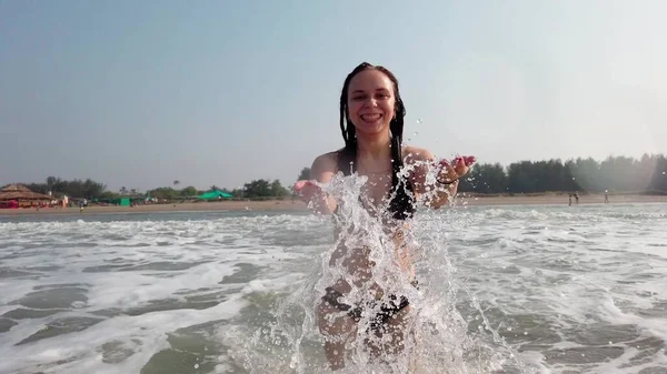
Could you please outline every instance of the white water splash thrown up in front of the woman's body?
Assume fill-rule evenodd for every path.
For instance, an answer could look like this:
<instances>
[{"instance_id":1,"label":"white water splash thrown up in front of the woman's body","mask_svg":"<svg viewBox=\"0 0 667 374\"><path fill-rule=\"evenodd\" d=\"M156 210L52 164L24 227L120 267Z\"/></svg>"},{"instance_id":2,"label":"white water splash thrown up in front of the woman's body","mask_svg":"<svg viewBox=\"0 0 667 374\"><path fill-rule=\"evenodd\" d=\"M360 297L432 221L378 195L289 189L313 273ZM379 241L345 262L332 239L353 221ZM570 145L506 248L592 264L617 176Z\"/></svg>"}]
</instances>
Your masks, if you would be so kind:
<instances>
[{"instance_id":1,"label":"white water splash thrown up in front of the woman's body","mask_svg":"<svg viewBox=\"0 0 667 374\"><path fill-rule=\"evenodd\" d=\"M405 168L408 173L416 164ZM427 183L435 181L432 168ZM340 373L491 373L528 372L517 355L492 328L475 295L456 277L446 243L451 233L441 230L441 213L419 211L409 220L409 228L398 230L407 243L396 245L382 219L371 215L362 205L362 189L367 179L352 174L335 175L322 189L339 202L339 214L334 219L339 232L330 250L312 259L312 272L292 287L290 294L280 296L271 311L271 323L258 326L252 337L231 356L249 373L329 373L325 355L322 325L336 321L351 321L348 312L319 314L326 289L344 280L349 292L339 299L347 305L362 305L356 324L347 334L345 348L334 351L345 358ZM420 196L418 205L438 191ZM391 198L391 196L390 196ZM454 212L447 212L454 214ZM455 221L456 222L456 221ZM465 224L465 222L458 222ZM456 228L452 228L456 232ZM346 261L359 265L355 251L340 255L340 247L359 249L372 263L370 274L359 275L346 266ZM410 284L410 272L400 266L401 254L416 267L418 286ZM339 257L330 262L331 257ZM402 267L402 270L401 270ZM365 279L366 282L360 280ZM378 292L381 290L381 292ZM374 330L374 316L382 303L405 296L410 303L402 333L391 327ZM336 320L338 317L338 320ZM344 319L344 320L342 320ZM389 325L394 321L389 321ZM385 325L386 326L386 325ZM376 326L377 327L377 326ZM237 331L228 337L243 340ZM396 337L401 338L399 342ZM397 348L398 347L398 348Z\"/></svg>"}]
</instances>

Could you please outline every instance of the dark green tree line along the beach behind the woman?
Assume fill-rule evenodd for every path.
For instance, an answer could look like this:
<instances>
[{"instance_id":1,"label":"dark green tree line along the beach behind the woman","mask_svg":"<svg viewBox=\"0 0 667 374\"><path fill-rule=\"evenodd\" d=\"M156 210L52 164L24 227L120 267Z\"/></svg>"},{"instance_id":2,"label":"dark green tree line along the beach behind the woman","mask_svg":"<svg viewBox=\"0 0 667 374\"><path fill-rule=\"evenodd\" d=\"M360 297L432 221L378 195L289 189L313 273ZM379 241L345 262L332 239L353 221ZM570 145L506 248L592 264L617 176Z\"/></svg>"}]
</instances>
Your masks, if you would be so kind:
<instances>
[{"instance_id":1,"label":"dark green tree line along the beach behind the woman","mask_svg":"<svg viewBox=\"0 0 667 374\"><path fill-rule=\"evenodd\" d=\"M663 154L645 154L640 159L609 156L598 162L591 158L548 161L519 161L502 166L499 163L476 164L461 180L459 192L486 194L498 193L544 193L544 192L667 192L667 159ZM310 169L303 168L297 180L310 179ZM211 185L208 190L195 186L179 189L162 186L140 193L122 186L118 192L107 190L103 183L87 180L66 181L49 176L44 183L22 183L40 193L52 192L54 196L68 195L86 199L117 199L119 196L146 196L186 200L196 199L208 191L222 191L235 199L283 199L291 196L291 184L283 186L279 180L258 179L245 183L242 188L228 190Z\"/></svg>"}]
</instances>

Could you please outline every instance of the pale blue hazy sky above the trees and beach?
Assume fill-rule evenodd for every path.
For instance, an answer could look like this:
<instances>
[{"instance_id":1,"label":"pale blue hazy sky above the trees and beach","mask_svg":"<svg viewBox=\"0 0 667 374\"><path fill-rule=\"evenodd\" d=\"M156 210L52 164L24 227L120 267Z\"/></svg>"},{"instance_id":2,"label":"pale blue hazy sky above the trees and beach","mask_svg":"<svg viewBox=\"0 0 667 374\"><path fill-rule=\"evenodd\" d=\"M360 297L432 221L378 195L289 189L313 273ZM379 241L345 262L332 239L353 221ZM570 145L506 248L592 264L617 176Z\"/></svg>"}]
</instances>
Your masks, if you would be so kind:
<instances>
[{"instance_id":1,"label":"pale blue hazy sky above the trees and beach","mask_svg":"<svg viewBox=\"0 0 667 374\"><path fill-rule=\"evenodd\" d=\"M0 0L0 185L291 185L360 62L481 163L667 154L667 1Z\"/></svg>"}]
</instances>

